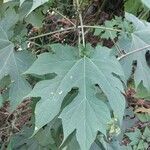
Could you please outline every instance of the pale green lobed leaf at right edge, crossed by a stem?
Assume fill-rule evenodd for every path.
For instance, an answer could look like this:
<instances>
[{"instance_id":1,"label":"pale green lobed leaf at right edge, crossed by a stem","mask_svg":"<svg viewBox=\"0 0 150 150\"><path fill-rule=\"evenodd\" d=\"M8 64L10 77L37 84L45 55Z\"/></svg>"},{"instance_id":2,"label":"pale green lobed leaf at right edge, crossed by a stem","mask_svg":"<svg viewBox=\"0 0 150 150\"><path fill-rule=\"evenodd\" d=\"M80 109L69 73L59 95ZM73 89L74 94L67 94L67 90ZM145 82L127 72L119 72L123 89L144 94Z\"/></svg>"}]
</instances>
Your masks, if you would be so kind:
<instances>
[{"instance_id":1,"label":"pale green lobed leaf at right edge, crossed by a stem","mask_svg":"<svg viewBox=\"0 0 150 150\"><path fill-rule=\"evenodd\" d=\"M142 50L133 52L132 54L121 59L120 62L123 66L126 78L128 79L132 72L132 63L136 60L137 67L134 73L136 88L142 81L143 86L147 90L150 90L150 68L145 59L145 54L149 51L150 45L150 25L143 23L138 18L130 14L127 14L127 19L133 22L136 30L131 34L131 38L123 37L120 39L118 45L125 51L125 53L132 53L138 49Z\"/></svg>"}]
</instances>

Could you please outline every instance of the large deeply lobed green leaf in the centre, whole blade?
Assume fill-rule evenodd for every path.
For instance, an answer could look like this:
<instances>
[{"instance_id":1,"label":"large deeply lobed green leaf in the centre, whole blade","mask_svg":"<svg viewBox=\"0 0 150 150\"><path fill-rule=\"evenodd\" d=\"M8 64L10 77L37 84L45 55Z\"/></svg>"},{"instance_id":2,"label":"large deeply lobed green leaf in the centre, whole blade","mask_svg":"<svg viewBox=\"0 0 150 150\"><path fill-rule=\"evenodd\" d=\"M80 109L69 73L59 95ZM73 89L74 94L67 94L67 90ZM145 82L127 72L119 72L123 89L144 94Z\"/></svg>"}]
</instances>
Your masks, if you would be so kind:
<instances>
[{"instance_id":1,"label":"large deeply lobed green leaf in the centre, whole blade","mask_svg":"<svg viewBox=\"0 0 150 150\"><path fill-rule=\"evenodd\" d=\"M54 44L54 54L41 54L26 74L44 75L56 73L52 80L37 83L27 97L41 97L35 108L35 132L50 122L60 111L67 93L78 87L79 93L67 105L60 118L63 122L64 140L76 130L77 141L82 150L89 149L97 131L106 135L111 120L109 108L97 99L94 85L98 84L106 94L115 116L122 120L125 101L121 94L121 81L112 73L123 76L121 66L110 50L98 46L91 58L75 57L76 48ZM44 110L44 111L43 111Z\"/></svg>"}]
</instances>

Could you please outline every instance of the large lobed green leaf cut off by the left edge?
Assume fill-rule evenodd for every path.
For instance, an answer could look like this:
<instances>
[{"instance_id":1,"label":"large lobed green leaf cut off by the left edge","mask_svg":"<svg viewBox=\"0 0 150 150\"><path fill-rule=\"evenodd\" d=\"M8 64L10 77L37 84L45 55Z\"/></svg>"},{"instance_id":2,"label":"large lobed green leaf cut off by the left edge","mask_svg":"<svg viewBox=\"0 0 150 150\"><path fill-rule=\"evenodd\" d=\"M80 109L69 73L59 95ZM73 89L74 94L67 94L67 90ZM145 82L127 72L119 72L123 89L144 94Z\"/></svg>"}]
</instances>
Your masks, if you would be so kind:
<instances>
[{"instance_id":1,"label":"large lobed green leaf cut off by the left edge","mask_svg":"<svg viewBox=\"0 0 150 150\"><path fill-rule=\"evenodd\" d=\"M31 87L21 74L32 64L33 57L27 51L15 52L6 32L0 27L0 79L11 77L9 100L14 109L27 95Z\"/></svg>"}]
</instances>

